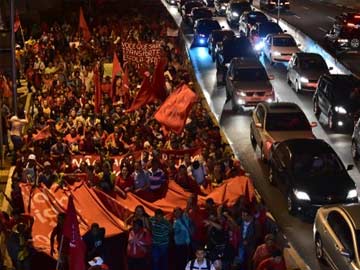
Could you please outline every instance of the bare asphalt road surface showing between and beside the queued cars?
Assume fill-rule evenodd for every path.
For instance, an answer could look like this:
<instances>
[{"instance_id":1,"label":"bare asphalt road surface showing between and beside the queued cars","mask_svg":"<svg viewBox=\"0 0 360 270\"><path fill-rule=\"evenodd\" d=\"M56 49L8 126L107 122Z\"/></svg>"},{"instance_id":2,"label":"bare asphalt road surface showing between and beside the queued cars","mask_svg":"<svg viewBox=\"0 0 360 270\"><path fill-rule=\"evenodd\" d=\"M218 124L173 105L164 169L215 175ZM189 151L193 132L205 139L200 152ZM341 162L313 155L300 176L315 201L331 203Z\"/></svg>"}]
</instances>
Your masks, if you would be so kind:
<instances>
[{"instance_id":1,"label":"bare asphalt road surface showing between and beside the queued cars","mask_svg":"<svg viewBox=\"0 0 360 270\"><path fill-rule=\"evenodd\" d=\"M289 21L293 20L299 24L299 27L309 29L309 35L318 39L322 38L324 31L320 28L327 29L332 23L332 19L339 14L338 7L324 6L315 4L308 0L292 1L292 12L287 14ZM297 4L299 3L299 4ZM311 8L310 8L311 7ZM181 23L175 7L169 7L168 10L175 18L178 25ZM295 15L296 14L296 15ZM295 16L300 17L297 18ZM303 19L302 16L311 16L311 20ZM219 22L228 28L224 18L217 18ZM316 27L315 27L316 25ZM320 25L318 27L318 25ZM187 44L190 45L192 40L191 30L182 25L184 33L186 33ZM300 256L305 260L311 269L328 269L327 266L321 265L315 258L314 245L312 240L312 223L298 217L292 217L287 213L286 201L282 194L274 187L270 186L268 179L268 167L260 161L259 151L251 146L249 139L249 125L251 111L235 114L231 111L230 102L225 104L225 88L216 85L216 68L211 58L207 54L206 48L194 48L190 50L190 56L193 67L204 95L210 105L211 110L218 119L220 126L228 137L235 154L241 160L244 168L251 175L255 186L270 212L280 225L283 233L292 243ZM268 74L275 76L272 85L276 95L281 101L290 101L297 103L307 115L309 121L317 121L312 112L312 96L311 94L297 95L286 83L286 67L282 64L270 66L269 62L261 57ZM314 134L324 139L332 145L339 154L344 164L351 164L353 160L350 153L351 136L350 133L335 133L328 130L324 116L320 117L318 126L314 128ZM357 167L350 172L358 187L360 187L360 174Z\"/></svg>"}]
</instances>

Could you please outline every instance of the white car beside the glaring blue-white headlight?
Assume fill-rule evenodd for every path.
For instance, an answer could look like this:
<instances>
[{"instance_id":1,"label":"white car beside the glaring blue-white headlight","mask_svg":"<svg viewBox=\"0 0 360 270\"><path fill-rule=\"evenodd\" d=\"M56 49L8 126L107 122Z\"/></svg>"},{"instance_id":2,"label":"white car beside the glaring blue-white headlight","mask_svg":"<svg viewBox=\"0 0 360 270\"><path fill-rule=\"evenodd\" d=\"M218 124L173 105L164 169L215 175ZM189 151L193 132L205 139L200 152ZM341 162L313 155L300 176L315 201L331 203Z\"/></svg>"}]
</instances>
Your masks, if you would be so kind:
<instances>
[{"instance_id":1,"label":"white car beside the glaring blue-white headlight","mask_svg":"<svg viewBox=\"0 0 360 270\"><path fill-rule=\"evenodd\" d=\"M289 34L270 34L265 38L263 52L270 64L287 63L299 51L296 41Z\"/></svg>"}]
</instances>

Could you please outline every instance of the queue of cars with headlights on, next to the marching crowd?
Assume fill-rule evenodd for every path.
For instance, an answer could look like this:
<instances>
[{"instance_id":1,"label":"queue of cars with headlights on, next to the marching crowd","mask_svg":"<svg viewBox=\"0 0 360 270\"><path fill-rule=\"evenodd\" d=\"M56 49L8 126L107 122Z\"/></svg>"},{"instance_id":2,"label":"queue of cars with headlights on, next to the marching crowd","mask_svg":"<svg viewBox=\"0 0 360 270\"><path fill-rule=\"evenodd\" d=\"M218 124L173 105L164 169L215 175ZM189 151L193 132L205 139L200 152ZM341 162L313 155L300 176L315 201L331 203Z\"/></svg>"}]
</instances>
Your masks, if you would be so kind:
<instances>
[{"instance_id":1,"label":"queue of cars with headlights on, next to the marching crowd","mask_svg":"<svg viewBox=\"0 0 360 270\"><path fill-rule=\"evenodd\" d=\"M240 37L212 23L213 19L201 18L194 23L194 41L203 40L197 45L207 46L220 75L217 81L225 83L233 110L255 106L251 143L268 163L268 180L284 194L289 213L315 216L317 258L326 259L334 269L359 269L360 205L348 174L353 166L345 167L331 146L314 136L312 128L317 123L309 123L299 106L273 102L273 76L266 73L258 54L262 52L270 63L288 62L288 83L296 93L314 92L314 114L324 114L330 129L352 125L358 118L359 80L330 74L320 55L301 52L290 35L264 16L255 11L239 15ZM201 28L207 28L208 22L216 26L205 33ZM360 120L354 129L352 153L354 159L359 158Z\"/></svg>"}]
</instances>

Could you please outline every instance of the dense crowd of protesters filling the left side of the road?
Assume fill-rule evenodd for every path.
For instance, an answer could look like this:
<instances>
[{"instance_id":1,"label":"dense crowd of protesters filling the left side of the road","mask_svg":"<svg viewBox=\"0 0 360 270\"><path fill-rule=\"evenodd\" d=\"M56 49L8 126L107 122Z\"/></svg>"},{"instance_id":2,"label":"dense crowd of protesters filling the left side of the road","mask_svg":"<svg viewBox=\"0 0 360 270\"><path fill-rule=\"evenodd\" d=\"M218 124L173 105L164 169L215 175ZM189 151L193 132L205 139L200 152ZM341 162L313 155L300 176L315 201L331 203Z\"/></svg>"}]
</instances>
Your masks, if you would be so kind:
<instances>
[{"instance_id":1,"label":"dense crowd of protesters filling the left side of the road","mask_svg":"<svg viewBox=\"0 0 360 270\"><path fill-rule=\"evenodd\" d=\"M167 60L168 94L181 84L192 85L179 39L166 35L167 28L175 28L166 11L142 16L135 10L120 18L105 13L89 21L89 42L83 40L72 16L27 29L24 46L17 47L18 76L26 79L33 103L30 111L17 116L6 110L6 102L3 106L4 125L9 128L9 133L4 133L4 143L12 153L15 172L11 197L7 198L12 213L3 213L0 224L13 266L30 269L33 252L28 244L33 218L24 214L19 183L66 188L71 175L83 174L93 188L123 198L128 192L156 198L159 191L166 190L168 181L193 193L186 209L175 208L170 220L161 209L150 217L142 205L136 207L126 220L129 270L286 269L276 243L276 228L261 203L250 203L241 196L231 208L215 205L212 199L206 201L204 208L199 206L196 194L243 173L201 102L194 104L181 134L168 132L153 119L160 102L126 112L139 90L144 70L126 63L128 93L117 90L122 86L121 75L113 84L110 77L103 75L103 63L112 62L114 52L122 59L122 41L160 40ZM94 103L95 65L100 67L102 80L98 112ZM153 73L154 68L147 67L147 71ZM9 83L9 79L2 79L3 84ZM185 155L181 160L164 160L160 154L162 149L197 147L201 152L196 157ZM74 166L71 157L83 154L97 154L100 159L95 164L82 162L79 167ZM113 169L113 156L124 157L118 174ZM60 256L62 269L67 269L66 248L62 254L57 250L64 215L59 214L49 245L51 255ZM107 269L104 238L101 224L92 224L83 236L91 269ZM5 253L2 249L1 254Z\"/></svg>"}]
</instances>

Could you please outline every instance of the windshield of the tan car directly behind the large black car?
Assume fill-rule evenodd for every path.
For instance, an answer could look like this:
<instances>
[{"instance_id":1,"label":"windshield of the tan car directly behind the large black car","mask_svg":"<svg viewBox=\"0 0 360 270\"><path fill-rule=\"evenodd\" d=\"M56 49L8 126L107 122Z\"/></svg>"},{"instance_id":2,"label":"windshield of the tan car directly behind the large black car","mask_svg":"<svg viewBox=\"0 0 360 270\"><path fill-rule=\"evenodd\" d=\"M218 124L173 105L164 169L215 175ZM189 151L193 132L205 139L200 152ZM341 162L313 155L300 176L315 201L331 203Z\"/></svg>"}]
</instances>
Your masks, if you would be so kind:
<instances>
[{"instance_id":1,"label":"windshield of the tan car directly behind the large black car","mask_svg":"<svg viewBox=\"0 0 360 270\"><path fill-rule=\"evenodd\" d=\"M303 113L269 113L266 118L268 131L310 130L309 121Z\"/></svg>"}]
</instances>

